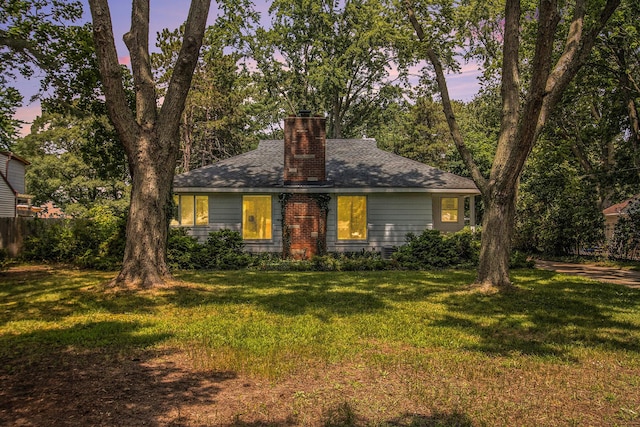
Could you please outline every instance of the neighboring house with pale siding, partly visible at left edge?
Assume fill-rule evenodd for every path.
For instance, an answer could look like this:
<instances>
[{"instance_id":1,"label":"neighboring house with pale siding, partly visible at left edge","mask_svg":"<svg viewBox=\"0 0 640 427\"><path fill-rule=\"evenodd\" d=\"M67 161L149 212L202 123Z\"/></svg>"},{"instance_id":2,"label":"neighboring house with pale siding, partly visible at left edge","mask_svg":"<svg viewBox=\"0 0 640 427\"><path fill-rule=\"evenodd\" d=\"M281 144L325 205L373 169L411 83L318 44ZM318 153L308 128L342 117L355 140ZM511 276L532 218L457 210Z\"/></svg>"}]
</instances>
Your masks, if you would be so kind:
<instances>
[{"instance_id":1,"label":"neighboring house with pale siding, partly visible at left edge","mask_svg":"<svg viewBox=\"0 0 640 427\"><path fill-rule=\"evenodd\" d=\"M28 161L15 154L0 151L0 217L33 216L32 196L25 194L28 165Z\"/></svg>"}]
</instances>

